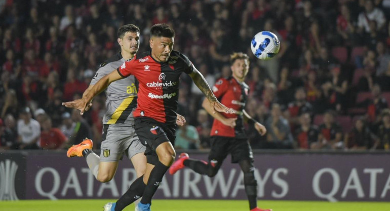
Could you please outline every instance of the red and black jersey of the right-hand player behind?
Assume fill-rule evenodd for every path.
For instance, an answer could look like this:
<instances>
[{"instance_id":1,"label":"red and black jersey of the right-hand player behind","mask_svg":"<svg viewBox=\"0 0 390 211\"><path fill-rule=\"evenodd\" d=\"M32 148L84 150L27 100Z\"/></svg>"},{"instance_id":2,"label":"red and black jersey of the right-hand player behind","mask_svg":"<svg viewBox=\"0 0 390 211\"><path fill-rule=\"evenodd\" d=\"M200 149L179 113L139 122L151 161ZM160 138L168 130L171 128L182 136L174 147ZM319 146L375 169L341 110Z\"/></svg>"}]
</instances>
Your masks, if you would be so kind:
<instances>
[{"instance_id":1,"label":"red and black jersey of the right-hand player behind","mask_svg":"<svg viewBox=\"0 0 390 211\"><path fill-rule=\"evenodd\" d=\"M210 135L247 138L244 131L243 110L248 99L249 86L239 83L235 78L219 79L212 88L218 100L230 109L237 111L236 114L221 113L226 118L236 118L236 127L231 128L219 120L214 119Z\"/></svg>"}]
</instances>

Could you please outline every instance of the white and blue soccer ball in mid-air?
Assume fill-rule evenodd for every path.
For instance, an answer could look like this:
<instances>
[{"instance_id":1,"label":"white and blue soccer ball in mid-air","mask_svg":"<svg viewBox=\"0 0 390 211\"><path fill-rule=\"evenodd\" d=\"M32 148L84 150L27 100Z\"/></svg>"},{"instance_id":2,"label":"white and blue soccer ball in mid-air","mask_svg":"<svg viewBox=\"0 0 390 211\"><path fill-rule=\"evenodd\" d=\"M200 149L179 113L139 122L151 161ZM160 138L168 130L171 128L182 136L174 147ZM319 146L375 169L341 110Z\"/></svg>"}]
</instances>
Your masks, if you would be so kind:
<instances>
[{"instance_id":1,"label":"white and blue soccer ball in mid-air","mask_svg":"<svg viewBox=\"0 0 390 211\"><path fill-rule=\"evenodd\" d=\"M278 37L270 31L260 31L252 39L252 53L259 59L268 60L280 49Z\"/></svg>"}]
</instances>

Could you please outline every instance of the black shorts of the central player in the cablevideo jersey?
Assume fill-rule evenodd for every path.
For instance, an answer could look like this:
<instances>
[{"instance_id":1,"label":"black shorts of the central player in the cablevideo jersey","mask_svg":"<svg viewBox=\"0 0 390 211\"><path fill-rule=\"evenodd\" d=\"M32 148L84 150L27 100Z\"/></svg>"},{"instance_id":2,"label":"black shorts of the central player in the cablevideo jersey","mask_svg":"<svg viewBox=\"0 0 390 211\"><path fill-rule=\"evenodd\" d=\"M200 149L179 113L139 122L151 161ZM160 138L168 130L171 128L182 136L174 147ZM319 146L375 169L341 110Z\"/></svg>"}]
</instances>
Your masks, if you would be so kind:
<instances>
[{"instance_id":1,"label":"black shorts of the central player in the cablevideo jersey","mask_svg":"<svg viewBox=\"0 0 390 211\"><path fill-rule=\"evenodd\" d=\"M140 142L146 146L145 155L148 163L155 165L159 157L155 149L164 142L171 142L175 146L176 127L155 121L149 117L136 117L134 128Z\"/></svg>"}]
</instances>

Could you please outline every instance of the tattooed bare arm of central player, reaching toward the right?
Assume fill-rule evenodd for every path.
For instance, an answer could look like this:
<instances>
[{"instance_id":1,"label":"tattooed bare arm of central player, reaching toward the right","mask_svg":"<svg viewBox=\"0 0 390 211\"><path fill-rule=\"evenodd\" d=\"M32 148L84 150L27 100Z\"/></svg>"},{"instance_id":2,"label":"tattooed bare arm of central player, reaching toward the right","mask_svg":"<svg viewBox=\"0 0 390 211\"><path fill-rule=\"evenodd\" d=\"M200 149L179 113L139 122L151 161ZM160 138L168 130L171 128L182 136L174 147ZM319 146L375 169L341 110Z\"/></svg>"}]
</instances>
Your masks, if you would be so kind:
<instances>
[{"instance_id":1,"label":"tattooed bare arm of central player, reaching toward the right","mask_svg":"<svg viewBox=\"0 0 390 211\"><path fill-rule=\"evenodd\" d=\"M197 85L197 87L206 95L206 98L210 101L212 113L224 112L228 114L235 113L233 110L225 107L222 103L220 103L215 97L213 91L211 91L210 86L207 84L205 77L201 73L199 73L198 69L193 67L192 73L189 74L192 78L193 83Z\"/></svg>"}]
</instances>

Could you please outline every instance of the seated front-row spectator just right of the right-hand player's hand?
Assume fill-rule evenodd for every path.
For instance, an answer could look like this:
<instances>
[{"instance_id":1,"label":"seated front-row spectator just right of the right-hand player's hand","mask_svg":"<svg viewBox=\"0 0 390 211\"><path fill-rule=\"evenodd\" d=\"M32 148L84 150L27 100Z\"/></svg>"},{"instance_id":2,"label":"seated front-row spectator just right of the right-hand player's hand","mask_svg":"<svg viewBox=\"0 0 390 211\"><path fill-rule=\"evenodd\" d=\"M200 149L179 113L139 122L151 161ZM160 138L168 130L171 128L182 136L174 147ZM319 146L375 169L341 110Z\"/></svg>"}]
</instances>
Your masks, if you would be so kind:
<instances>
[{"instance_id":1,"label":"seated front-row spectator just right of the right-hand player's hand","mask_svg":"<svg viewBox=\"0 0 390 211\"><path fill-rule=\"evenodd\" d=\"M266 121L267 142L263 143L264 149L292 149L293 137L288 121L283 118L280 105L272 104L271 116Z\"/></svg>"}]
</instances>

